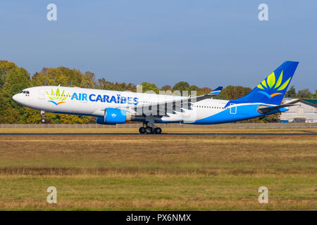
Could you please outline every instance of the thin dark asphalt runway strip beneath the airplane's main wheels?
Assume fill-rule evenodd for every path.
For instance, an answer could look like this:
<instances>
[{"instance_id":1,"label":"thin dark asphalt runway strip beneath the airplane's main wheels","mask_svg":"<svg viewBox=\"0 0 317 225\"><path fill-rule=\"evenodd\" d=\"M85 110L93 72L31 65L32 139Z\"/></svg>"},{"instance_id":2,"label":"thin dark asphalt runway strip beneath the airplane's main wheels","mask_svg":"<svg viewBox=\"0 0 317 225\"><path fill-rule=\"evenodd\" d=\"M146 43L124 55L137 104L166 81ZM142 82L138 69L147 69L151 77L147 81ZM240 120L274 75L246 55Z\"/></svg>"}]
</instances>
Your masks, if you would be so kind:
<instances>
[{"instance_id":1,"label":"thin dark asphalt runway strip beneath the airplane's main wheels","mask_svg":"<svg viewBox=\"0 0 317 225\"><path fill-rule=\"evenodd\" d=\"M68 133L68 134L44 134L44 133L34 133L34 134L15 134L15 133L4 133L0 136L149 136L149 134L136 134L136 133L113 133L113 134L93 134L93 133ZM306 133L292 133L292 134L282 134L282 133L163 133L163 134L152 134L154 136L317 136L316 132L307 131Z\"/></svg>"}]
</instances>

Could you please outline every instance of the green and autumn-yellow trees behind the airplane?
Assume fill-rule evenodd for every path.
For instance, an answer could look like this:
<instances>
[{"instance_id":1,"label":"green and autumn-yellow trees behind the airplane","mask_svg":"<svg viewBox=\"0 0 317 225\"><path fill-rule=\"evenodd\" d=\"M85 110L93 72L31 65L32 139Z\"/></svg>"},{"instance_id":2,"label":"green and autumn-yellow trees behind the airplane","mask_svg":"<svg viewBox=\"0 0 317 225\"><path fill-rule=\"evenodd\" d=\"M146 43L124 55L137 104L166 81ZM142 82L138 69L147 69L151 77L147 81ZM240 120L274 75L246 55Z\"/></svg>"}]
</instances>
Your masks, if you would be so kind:
<instances>
[{"instance_id":1,"label":"green and autumn-yellow trees behind the airplane","mask_svg":"<svg viewBox=\"0 0 317 225\"><path fill-rule=\"evenodd\" d=\"M40 122L38 110L22 107L13 101L12 96L30 86L78 86L91 89L106 89L113 91L137 91L137 86L132 83L109 82L104 77L96 79L93 72L82 73L80 70L66 67L43 68L30 76L24 68L19 68L15 63L7 60L0 60L0 123L34 124ZM207 94L212 89L209 87L198 87L189 85L188 82L178 82L174 86L164 85L161 88L156 84L142 82L143 91L197 91L197 95ZM231 100L240 98L249 93L251 89L244 86L226 86L216 97L218 99ZM294 86L287 91L287 97L295 98L317 98L317 94L311 94L309 89L294 89ZM253 122L271 122L276 120L276 115L252 119ZM94 123L94 117L79 115L63 115L46 113L46 121L52 124L63 123Z\"/></svg>"}]
</instances>

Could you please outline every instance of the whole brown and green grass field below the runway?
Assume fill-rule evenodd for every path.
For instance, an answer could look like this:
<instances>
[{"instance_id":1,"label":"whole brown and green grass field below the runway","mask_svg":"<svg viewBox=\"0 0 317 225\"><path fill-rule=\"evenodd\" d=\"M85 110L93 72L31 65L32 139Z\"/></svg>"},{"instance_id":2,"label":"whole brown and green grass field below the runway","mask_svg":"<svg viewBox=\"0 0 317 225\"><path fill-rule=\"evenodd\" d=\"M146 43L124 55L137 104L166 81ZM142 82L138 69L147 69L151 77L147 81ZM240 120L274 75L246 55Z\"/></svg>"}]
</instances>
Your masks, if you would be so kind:
<instances>
[{"instance_id":1,"label":"whole brown and green grass field below the runway","mask_svg":"<svg viewBox=\"0 0 317 225\"><path fill-rule=\"evenodd\" d=\"M0 136L0 209L316 210L316 140ZM57 188L57 204L46 203L49 186ZM268 204L258 202L260 186L268 188Z\"/></svg>"}]
</instances>

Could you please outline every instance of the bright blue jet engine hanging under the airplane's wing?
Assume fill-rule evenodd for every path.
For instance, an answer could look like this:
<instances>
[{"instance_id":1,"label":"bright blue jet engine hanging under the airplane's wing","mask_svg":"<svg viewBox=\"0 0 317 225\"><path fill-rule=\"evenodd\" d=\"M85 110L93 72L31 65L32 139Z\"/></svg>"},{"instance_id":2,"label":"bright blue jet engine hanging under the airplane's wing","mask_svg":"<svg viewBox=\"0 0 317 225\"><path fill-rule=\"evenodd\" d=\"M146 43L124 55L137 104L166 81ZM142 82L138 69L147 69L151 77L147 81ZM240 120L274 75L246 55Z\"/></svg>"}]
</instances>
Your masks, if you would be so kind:
<instances>
[{"instance_id":1,"label":"bright blue jet engine hanging under the airplane's wing","mask_svg":"<svg viewBox=\"0 0 317 225\"><path fill-rule=\"evenodd\" d=\"M125 124L129 120L132 120L131 113L119 108L106 108L104 118L96 118L97 124Z\"/></svg>"}]
</instances>

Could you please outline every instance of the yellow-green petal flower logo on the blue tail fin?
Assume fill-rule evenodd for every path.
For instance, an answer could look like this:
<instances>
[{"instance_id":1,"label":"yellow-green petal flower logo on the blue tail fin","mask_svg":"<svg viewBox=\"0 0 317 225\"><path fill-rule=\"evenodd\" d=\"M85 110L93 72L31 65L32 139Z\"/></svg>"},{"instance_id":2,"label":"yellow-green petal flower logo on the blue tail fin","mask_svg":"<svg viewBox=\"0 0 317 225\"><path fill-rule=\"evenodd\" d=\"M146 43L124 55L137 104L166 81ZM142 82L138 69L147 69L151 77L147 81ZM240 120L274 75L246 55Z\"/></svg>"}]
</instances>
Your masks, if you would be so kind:
<instances>
[{"instance_id":1,"label":"yellow-green petal flower logo on the blue tail fin","mask_svg":"<svg viewBox=\"0 0 317 225\"><path fill-rule=\"evenodd\" d=\"M257 86L259 89L263 89L264 91L258 91L258 92L267 96L268 98L273 98L274 96L278 96L279 94L284 94L278 91L284 90L287 87L287 85L290 83L291 78L292 77L287 79L287 81L282 84L283 72L281 72L280 77L278 77L278 80L275 82L276 80L275 74L274 72L272 72L271 75L269 75L266 79L263 80L263 82L261 82Z\"/></svg>"}]
</instances>

